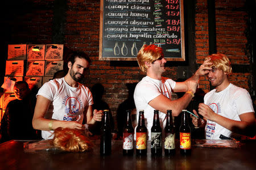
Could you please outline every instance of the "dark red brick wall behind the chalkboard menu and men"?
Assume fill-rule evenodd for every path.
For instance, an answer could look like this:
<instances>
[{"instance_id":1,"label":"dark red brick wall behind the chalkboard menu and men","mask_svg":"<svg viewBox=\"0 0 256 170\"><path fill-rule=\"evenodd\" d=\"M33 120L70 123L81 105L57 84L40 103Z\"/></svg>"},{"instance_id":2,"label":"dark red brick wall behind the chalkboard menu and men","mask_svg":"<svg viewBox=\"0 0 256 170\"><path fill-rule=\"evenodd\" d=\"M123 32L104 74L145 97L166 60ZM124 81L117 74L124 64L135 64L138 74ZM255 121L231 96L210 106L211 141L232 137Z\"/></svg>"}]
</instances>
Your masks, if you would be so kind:
<instances>
[{"instance_id":1,"label":"dark red brick wall behind the chalkboard menu and men","mask_svg":"<svg viewBox=\"0 0 256 170\"><path fill-rule=\"evenodd\" d=\"M89 88L96 83L101 83L104 86L103 99L109 104L116 121L117 109L128 96L126 84L139 82L144 74L135 62L123 66L118 65L118 62L98 60L100 0L31 0L30 2L26 1L26 4L15 2L15 5L13 2L4 2L6 6L13 8L2 16L1 22L6 27L4 28L5 35L0 40L1 52L7 54L7 44L57 43L53 39L54 10L56 10L54 4L56 2L67 3L64 5L65 23L57 25L61 28L59 32L63 33L65 48L83 50L89 54L92 64L85 84ZM238 0L216 1L217 52L227 54L231 62L238 65L249 65L245 36L248 18L244 3L244 1ZM21 5L23 7L20 7ZM195 12L196 63L203 63L204 57L209 54L207 0L197 0ZM64 49L65 52L67 50ZM2 61L5 61L6 58L7 56L2 57ZM169 76L174 80L179 79L177 68L178 66L168 67L164 76ZM250 73L235 73L230 76L232 83L249 91L250 79ZM200 88L205 92L209 91L209 82L205 77L201 78Z\"/></svg>"}]
</instances>

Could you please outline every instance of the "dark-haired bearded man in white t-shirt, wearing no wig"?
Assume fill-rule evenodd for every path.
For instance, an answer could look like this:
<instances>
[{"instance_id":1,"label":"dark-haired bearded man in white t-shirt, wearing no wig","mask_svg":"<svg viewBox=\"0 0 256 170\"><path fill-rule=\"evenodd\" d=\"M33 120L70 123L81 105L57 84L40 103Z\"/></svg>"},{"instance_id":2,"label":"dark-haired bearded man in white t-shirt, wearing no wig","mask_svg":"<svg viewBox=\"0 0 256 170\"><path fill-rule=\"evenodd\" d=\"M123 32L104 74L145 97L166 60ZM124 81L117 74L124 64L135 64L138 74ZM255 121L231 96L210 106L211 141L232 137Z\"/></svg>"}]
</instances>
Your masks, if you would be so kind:
<instances>
[{"instance_id":1,"label":"dark-haired bearded man in white t-shirt, wearing no wig","mask_svg":"<svg viewBox=\"0 0 256 170\"><path fill-rule=\"evenodd\" d=\"M102 111L92 111L93 97L80 80L89 69L90 58L82 52L74 52L68 60L68 74L64 78L45 83L36 95L34 129L42 130L44 139L53 138L56 128L85 129L101 121Z\"/></svg>"}]
</instances>

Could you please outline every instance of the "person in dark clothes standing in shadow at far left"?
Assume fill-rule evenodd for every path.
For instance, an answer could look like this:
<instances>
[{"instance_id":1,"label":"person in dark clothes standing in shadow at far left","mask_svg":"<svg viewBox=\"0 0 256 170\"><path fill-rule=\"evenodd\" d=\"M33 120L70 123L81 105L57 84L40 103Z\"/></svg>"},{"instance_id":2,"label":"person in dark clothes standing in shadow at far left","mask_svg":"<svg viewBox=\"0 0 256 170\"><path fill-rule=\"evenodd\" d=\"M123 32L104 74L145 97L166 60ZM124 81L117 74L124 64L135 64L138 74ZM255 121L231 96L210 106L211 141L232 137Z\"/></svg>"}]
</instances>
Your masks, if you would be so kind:
<instances>
[{"instance_id":1,"label":"person in dark clothes standing in shadow at far left","mask_svg":"<svg viewBox=\"0 0 256 170\"><path fill-rule=\"evenodd\" d=\"M14 84L15 100L7 104L1 121L1 142L16 140L41 139L39 131L32 127L35 108L35 96L31 94L27 82Z\"/></svg>"}]
</instances>

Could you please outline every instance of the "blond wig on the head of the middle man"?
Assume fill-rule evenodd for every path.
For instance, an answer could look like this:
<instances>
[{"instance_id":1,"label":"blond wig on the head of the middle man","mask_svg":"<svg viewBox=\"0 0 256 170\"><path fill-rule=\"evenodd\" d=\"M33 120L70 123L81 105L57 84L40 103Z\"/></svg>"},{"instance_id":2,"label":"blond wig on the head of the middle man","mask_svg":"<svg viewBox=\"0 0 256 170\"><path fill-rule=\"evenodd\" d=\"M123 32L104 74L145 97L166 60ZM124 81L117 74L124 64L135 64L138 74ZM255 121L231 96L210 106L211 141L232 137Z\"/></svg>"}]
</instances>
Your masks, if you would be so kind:
<instances>
[{"instance_id":1,"label":"blond wig on the head of the middle man","mask_svg":"<svg viewBox=\"0 0 256 170\"><path fill-rule=\"evenodd\" d=\"M145 65L145 62L151 62L153 63L156 61L156 59L163 56L163 49L155 46L154 44L151 45L143 45L141 50L139 50L137 54L137 61L139 64L139 68L144 73L147 72L147 66Z\"/></svg>"}]
</instances>

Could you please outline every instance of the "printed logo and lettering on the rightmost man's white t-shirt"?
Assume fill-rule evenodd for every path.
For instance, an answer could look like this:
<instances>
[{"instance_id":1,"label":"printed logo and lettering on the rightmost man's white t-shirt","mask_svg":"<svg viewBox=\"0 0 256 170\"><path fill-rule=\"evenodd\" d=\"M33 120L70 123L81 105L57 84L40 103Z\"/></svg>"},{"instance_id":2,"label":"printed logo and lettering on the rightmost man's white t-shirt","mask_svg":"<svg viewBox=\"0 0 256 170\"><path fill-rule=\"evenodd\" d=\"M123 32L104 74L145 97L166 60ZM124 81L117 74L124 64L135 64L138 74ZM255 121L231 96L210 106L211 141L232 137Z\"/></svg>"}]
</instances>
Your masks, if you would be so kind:
<instances>
[{"instance_id":1,"label":"printed logo and lettering on the rightmost man's white t-shirt","mask_svg":"<svg viewBox=\"0 0 256 170\"><path fill-rule=\"evenodd\" d=\"M213 110L214 113L217 113L217 114L221 113L220 103L211 103L209 107ZM216 123L212 121L208 121L207 125L205 126L205 136L207 138L210 138L212 135L214 135L215 131L216 131Z\"/></svg>"}]
</instances>

